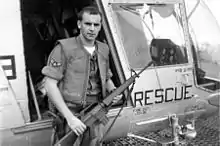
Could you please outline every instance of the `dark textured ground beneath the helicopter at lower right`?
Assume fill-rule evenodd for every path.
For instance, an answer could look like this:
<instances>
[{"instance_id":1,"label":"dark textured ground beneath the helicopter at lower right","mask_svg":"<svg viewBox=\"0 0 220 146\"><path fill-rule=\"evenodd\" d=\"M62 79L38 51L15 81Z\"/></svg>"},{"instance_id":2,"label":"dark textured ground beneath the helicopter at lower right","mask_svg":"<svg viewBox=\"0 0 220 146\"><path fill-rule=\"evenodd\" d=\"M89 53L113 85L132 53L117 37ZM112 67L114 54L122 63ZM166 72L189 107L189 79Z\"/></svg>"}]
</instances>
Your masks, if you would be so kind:
<instances>
[{"instance_id":1,"label":"dark textured ground beneath the helicopter at lower right","mask_svg":"<svg viewBox=\"0 0 220 146\"><path fill-rule=\"evenodd\" d=\"M187 140L183 145L186 146L220 146L220 114L219 112L213 113L208 118L199 118L196 122L197 136L195 139ZM160 133L145 133L142 136L149 139L167 139L169 137L170 130L165 129ZM107 144L111 146L157 146L157 144L149 143L137 138L120 138L116 141Z\"/></svg>"}]
</instances>

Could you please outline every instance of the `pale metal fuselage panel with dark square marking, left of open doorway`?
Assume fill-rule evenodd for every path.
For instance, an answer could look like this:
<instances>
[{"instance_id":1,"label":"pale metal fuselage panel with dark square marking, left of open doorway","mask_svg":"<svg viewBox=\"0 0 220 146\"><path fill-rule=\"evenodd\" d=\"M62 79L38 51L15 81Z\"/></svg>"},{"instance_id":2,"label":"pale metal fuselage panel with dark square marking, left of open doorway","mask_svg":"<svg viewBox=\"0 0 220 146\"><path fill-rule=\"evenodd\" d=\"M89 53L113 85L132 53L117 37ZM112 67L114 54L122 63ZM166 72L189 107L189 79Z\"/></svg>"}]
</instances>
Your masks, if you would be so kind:
<instances>
[{"instance_id":1,"label":"pale metal fuselage panel with dark square marking, left of open doorway","mask_svg":"<svg viewBox=\"0 0 220 146\"><path fill-rule=\"evenodd\" d=\"M30 121L26 83L26 66L24 58L24 45L21 26L21 1L5 1L4 5L0 5L0 56L3 63L4 72L10 79L11 88L15 94L15 98L22 106L25 122ZM4 64L4 63L9 64ZM0 63L1 64L1 63ZM5 66L9 65L9 66Z\"/></svg>"}]
</instances>

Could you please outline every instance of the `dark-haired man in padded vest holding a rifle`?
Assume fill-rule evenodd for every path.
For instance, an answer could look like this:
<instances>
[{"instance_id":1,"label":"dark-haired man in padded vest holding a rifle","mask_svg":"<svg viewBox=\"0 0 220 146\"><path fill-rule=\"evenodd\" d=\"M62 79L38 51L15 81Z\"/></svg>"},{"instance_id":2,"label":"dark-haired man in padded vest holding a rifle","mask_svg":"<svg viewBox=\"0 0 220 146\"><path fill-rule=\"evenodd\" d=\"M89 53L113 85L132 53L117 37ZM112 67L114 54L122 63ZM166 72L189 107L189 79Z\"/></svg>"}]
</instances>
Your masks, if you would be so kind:
<instances>
[{"instance_id":1,"label":"dark-haired man in padded vest holding a rifle","mask_svg":"<svg viewBox=\"0 0 220 146\"><path fill-rule=\"evenodd\" d=\"M116 88L111 80L108 46L96 41L101 21L101 13L95 7L83 8L77 22L79 36L59 40L42 70L49 99L79 136L75 145L83 145L82 135L87 128L75 114L103 100L107 92ZM115 97L113 103L121 97ZM92 134L86 145L101 145L102 125L90 129Z\"/></svg>"}]
</instances>

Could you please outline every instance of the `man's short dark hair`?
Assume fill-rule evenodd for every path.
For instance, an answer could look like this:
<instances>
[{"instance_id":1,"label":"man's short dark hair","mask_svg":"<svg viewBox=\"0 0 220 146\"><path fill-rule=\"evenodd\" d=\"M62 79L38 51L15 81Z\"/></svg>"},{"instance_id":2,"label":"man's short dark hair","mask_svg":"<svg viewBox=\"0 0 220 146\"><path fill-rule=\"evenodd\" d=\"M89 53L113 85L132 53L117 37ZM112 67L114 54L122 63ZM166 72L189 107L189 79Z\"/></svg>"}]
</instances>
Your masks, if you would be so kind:
<instances>
[{"instance_id":1,"label":"man's short dark hair","mask_svg":"<svg viewBox=\"0 0 220 146\"><path fill-rule=\"evenodd\" d=\"M102 19L102 14L101 12L98 10L98 8L96 6L87 6L84 7L79 13L78 13L78 20L82 20L83 18L83 14L84 13L88 13L90 15L100 15L101 19Z\"/></svg>"}]
</instances>

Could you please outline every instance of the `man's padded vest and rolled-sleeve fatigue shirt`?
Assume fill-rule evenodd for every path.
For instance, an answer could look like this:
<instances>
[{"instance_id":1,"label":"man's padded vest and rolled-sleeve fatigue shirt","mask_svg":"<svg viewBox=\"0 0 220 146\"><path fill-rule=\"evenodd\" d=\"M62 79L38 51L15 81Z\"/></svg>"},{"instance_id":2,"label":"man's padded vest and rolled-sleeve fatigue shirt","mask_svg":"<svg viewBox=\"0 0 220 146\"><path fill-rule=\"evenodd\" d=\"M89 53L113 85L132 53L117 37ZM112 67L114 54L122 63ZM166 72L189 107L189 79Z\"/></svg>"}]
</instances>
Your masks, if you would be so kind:
<instances>
[{"instance_id":1,"label":"man's padded vest and rolled-sleeve fatigue shirt","mask_svg":"<svg viewBox=\"0 0 220 146\"><path fill-rule=\"evenodd\" d=\"M96 50L92 55L87 52L82 44L74 46L73 50L68 50L70 53L65 52L65 49L62 48L64 47L63 44L58 44L51 52L48 64L43 69L43 74L61 83L60 90L61 93L64 93L65 101L75 100L78 104L80 99L87 95L100 95L102 93L103 96L102 89L106 87L103 86L103 82L110 79L112 73L109 69L108 56L105 56L105 46L103 48L100 45L97 46L96 43ZM67 57L67 55L69 56ZM101 72L102 75L100 75ZM84 93L81 91L83 88ZM104 92L106 91L104 90Z\"/></svg>"}]
</instances>

